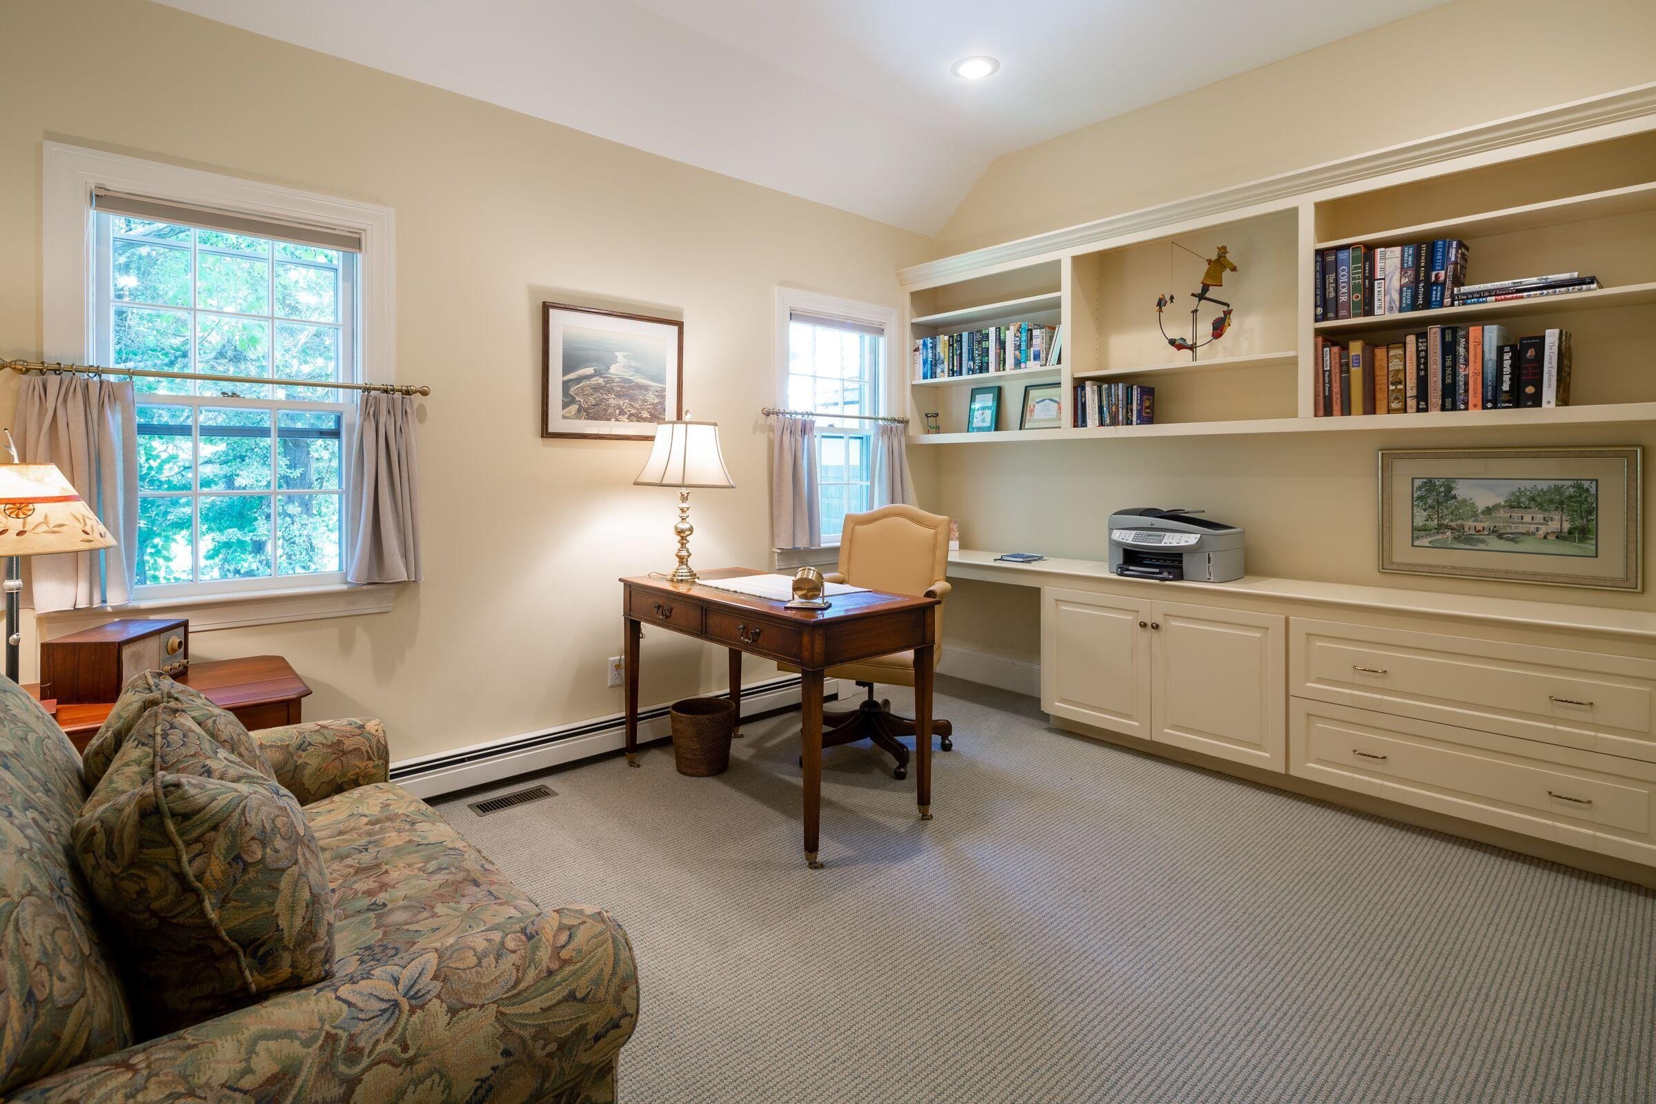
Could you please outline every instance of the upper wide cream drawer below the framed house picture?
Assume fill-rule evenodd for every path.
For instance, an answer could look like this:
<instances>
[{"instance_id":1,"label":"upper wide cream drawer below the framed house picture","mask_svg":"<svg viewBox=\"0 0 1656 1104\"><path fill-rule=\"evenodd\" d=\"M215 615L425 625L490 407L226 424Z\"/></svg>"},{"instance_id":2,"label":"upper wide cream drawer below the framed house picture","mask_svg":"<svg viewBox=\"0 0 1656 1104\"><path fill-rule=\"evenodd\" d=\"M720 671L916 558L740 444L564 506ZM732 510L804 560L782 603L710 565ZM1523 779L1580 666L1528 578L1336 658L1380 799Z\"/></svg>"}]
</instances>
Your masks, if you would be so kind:
<instances>
[{"instance_id":1,"label":"upper wide cream drawer below the framed house picture","mask_svg":"<svg viewBox=\"0 0 1656 1104\"><path fill-rule=\"evenodd\" d=\"M1288 687L1317 702L1656 761L1656 660L1293 617Z\"/></svg>"}]
</instances>

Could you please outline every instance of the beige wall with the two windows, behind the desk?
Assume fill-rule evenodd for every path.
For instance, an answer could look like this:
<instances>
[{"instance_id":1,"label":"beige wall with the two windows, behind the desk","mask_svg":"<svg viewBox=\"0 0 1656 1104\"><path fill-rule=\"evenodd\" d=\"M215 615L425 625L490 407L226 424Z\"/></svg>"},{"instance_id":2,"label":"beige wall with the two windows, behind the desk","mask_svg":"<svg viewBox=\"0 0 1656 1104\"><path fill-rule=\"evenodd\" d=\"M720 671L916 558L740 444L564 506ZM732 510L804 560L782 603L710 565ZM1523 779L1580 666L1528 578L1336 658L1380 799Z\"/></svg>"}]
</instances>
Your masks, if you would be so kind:
<instances>
[{"instance_id":1,"label":"beige wall with the two windows, behind the desk","mask_svg":"<svg viewBox=\"0 0 1656 1104\"><path fill-rule=\"evenodd\" d=\"M434 389L426 581L389 614L195 641L205 659L288 655L308 717L381 715L394 758L619 710L614 579L672 563L672 493L631 487L646 444L538 435L542 300L682 314L687 404L724 427L737 482L696 493L696 563L763 564L777 283L896 305L896 268L927 255L919 235L159 5L0 0L0 356L40 346L43 139L396 209L397 377ZM13 402L7 379L0 420ZM644 700L724 680L722 652L646 639Z\"/></svg>"}]
</instances>

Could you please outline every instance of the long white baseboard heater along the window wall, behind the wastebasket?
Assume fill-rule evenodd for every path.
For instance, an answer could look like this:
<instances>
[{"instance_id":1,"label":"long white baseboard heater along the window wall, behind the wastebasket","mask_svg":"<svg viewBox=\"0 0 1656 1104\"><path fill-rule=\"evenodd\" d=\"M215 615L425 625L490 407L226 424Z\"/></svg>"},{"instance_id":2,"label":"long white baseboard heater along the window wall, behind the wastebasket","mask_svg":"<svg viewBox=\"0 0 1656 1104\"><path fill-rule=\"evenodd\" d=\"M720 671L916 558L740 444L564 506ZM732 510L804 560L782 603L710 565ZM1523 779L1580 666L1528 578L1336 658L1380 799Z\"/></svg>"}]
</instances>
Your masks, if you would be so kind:
<instances>
[{"instance_id":1,"label":"long white baseboard heater along the window wall, behind the wastebasket","mask_svg":"<svg viewBox=\"0 0 1656 1104\"><path fill-rule=\"evenodd\" d=\"M823 684L823 692L833 697L840 692L840 684L830 679ZM710 695L709 695L710 697ZM778 708L800 703L798 675L785 679L765 679L742 687L742 717L757 717ZM672 702L662 702L647 708L639 708L638 742L664 740L671 735L667 708ZM573 763L575 760L619 751L626 746L626 725L623 713L596 717L593 720L525 732L517 737L502 737L474 743L454 751L421 755L411 760L397 760L391 765L391 781L397 783L417 798L437 798L457 790L485 786L517 775L546 770Z\"/></svg>"}]
</instances>

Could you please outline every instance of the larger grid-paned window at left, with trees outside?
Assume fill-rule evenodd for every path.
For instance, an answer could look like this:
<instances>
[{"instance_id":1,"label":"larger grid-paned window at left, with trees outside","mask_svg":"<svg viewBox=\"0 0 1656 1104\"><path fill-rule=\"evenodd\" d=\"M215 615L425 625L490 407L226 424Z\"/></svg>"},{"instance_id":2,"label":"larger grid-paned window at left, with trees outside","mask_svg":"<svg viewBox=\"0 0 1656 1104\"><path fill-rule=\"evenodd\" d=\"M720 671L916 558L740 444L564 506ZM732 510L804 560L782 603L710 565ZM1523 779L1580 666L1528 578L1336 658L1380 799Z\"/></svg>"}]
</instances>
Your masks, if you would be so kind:
<instances>
[{"instance_id":1,"label":"larger grid-paned window at left, with trees outside","mask_svg":"<svg viewBox=\"0 0 1656 1104\"><path fill-rule=\"evenodd\" d=\"M99 362L134 377L137 598L344 578L358 255L99 212Z\"/></svg>"}]
</instances>

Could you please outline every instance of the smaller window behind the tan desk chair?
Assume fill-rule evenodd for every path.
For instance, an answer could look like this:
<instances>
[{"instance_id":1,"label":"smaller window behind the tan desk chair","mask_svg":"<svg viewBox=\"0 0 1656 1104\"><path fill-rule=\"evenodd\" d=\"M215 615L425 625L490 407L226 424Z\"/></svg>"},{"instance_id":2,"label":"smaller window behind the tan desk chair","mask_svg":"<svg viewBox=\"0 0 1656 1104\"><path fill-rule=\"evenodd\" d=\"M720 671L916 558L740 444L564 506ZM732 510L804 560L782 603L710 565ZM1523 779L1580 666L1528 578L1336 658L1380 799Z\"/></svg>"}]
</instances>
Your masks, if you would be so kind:
<instances>
[{"instance_id":1,"label":"smaller window behind the tan desk chair","mask_svg":"<svg viewBox=\"0 0 1656 1104\"><path fill-rule=\"evenodd\" d=\"M793 311L788 318L790 410L816 414L816 487L823 540L838 541L845 515L873 502L874 422L846 414L879 414L884 331Z\"/></svg>"}]
</instances>

